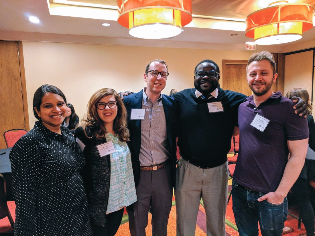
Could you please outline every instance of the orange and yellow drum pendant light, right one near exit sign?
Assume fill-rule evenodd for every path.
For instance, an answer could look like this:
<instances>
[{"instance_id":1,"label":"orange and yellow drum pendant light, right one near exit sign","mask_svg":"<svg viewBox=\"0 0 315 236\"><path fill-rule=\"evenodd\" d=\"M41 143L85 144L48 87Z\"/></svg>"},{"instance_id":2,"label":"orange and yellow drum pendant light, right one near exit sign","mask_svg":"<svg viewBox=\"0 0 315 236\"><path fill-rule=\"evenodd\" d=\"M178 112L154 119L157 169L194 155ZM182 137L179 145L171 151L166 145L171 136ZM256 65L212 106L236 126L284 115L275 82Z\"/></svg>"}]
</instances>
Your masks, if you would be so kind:
<instances>
[{"instance_id":1,"label":"orange and yellow drum pendant light, right one near exit sign","mask_svg":"<svg viewBox=\"0 0 315 236\"><path fill-rule=\"evenodd\" d=\"M279 3L287 1L278 1ZM313 27L314 7L306 3L276 5L253 12L246 17L245 35L256 44L269 45L292 42Z\"/></svg>"}]
</instances>

